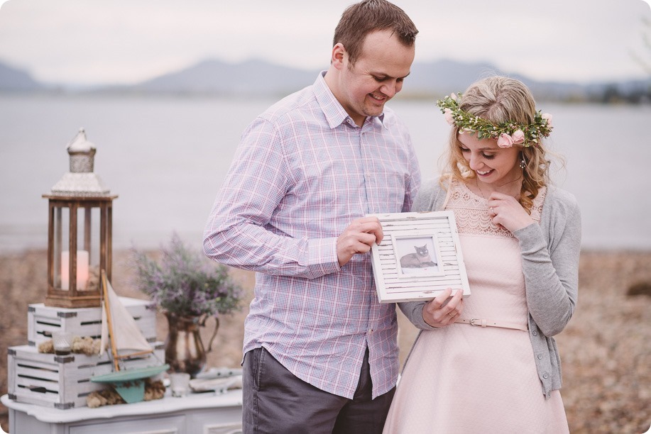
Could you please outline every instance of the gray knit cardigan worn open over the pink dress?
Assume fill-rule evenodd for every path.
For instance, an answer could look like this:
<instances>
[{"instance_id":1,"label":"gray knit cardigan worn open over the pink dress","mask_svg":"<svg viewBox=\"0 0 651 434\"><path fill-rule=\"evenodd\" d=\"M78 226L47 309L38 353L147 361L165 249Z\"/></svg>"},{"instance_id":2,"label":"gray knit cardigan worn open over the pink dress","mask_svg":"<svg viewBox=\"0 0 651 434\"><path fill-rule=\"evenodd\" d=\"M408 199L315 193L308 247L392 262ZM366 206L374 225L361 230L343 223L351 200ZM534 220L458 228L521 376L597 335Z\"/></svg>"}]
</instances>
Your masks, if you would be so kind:
<instances>
[{"instance_id":1,"label":"gray knit cardigan worn open over the pink dress","mask_svg":"<svg viewBox=\"0 0 651 434\"><path fill-rule=\"evenodd\" d=\"M412 211L441 211L446 194L438 180L430 181L421 187ZM581 215L576 199L567 191L547 187L540 225L532 223L513 235L522 252L529 335L538 377L542 392L549 398L551 391L562 385L561 362L552 336L565 328L578 297ZM425 303L399 305L417 328L436 330L422 318Z\"/></svg>"}]
</instances>

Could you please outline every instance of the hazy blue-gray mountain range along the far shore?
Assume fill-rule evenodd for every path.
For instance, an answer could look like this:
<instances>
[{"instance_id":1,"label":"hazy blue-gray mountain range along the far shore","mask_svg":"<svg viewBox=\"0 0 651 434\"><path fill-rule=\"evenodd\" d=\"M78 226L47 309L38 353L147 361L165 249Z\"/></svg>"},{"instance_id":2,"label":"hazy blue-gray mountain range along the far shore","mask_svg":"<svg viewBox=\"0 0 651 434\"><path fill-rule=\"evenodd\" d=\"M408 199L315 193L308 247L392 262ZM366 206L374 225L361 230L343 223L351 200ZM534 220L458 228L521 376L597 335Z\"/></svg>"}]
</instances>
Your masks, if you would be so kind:
<instances>
[{"instance_id":1,"label":"hazy blue-gray mountain range along the far shore","mask_svg":"<svg viewBox=\"0 0 651 434\"><path fill-rule=\"evenodd\" d=\"M324 65L323 69L326 69ZM104 86L94 89L45 87L28 72L0 62L0 91L67 91L94 94L176 94L207 96L283 96L314 82L318 69L305 70L274 65L263 60L237 64L205 60L187 69L170 72L131 86ZM398 98L438 98L452 91L463 91L481 77L501 74L522 80L538 100L561 101L651 101L651 81L538 82L500 70L488 62L464 63L454 60L415 63Z\"/></svg>"}]
</instances>

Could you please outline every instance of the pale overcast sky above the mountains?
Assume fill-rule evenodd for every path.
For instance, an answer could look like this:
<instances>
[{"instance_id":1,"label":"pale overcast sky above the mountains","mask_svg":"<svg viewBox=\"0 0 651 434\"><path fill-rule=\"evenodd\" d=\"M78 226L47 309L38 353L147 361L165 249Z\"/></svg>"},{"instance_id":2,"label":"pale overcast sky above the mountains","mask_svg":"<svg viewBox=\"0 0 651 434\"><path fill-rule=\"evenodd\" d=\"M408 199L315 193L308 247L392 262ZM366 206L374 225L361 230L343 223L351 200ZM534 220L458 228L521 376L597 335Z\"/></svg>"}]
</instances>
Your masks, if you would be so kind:
<instances>
[{"instance_id":1,"label":"pale overcast sky above the mountains","mask_svg":"<svg viewBox=\"0 0 651 434\"><path fill-rule=\"evenodd\" d=\"M0 0L0 61L60 84L131 84L209 58L325 69L353 2ZM648 77L634 60L651 64L645 0L394 3L420 30L416 62L488 61L538 80Z\"/></svg>"}]
</instances>

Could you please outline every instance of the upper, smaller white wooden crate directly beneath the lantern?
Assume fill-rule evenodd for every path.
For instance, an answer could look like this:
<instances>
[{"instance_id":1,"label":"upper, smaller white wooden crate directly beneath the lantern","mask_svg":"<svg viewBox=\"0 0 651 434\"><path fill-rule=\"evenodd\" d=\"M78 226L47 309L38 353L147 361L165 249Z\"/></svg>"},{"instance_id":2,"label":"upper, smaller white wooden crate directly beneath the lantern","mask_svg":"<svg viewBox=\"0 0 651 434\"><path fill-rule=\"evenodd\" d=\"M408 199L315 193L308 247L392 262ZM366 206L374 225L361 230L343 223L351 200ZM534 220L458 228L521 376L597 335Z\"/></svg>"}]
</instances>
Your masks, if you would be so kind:
<instances>
[{"instance_id":1,"label":"upper, smaller white wooden crate directly beneath the lantern","mask_svg":"<svg viewBox=\"0 0 651 434\"><path fill-rule=\"evenodd\" d=\"M156 305L153 301L120 297L121 303L136 320L138 328L152 343L156 341ZM28 306L27 340L38 346L52 338L56 331L69 332L75 336L99 338L102 333L102 308L60 308L43 303Z\"/></svg>"}]
</instances>

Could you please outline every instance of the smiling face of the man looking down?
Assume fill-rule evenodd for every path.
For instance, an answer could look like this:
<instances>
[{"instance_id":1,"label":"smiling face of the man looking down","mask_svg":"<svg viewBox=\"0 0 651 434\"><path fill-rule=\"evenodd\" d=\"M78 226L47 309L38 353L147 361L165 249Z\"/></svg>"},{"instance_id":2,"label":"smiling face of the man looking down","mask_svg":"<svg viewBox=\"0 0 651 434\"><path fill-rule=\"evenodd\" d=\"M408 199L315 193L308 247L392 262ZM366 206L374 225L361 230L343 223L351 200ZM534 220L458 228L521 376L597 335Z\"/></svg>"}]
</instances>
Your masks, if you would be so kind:
<instances>
[{"instance_id":1,"label":"smiling face of the man looking down","mask_svg":"<svg viewBox=\"0 0 651 434\"><path fill-rule=\"evenodd\" d=\"M351 65L344 52L339 79L339 103L359 126L366 116L378 116L410 72L415 48L405 47L390 30L369 33L361 55Z\"/></svg>"}]
</instances>

